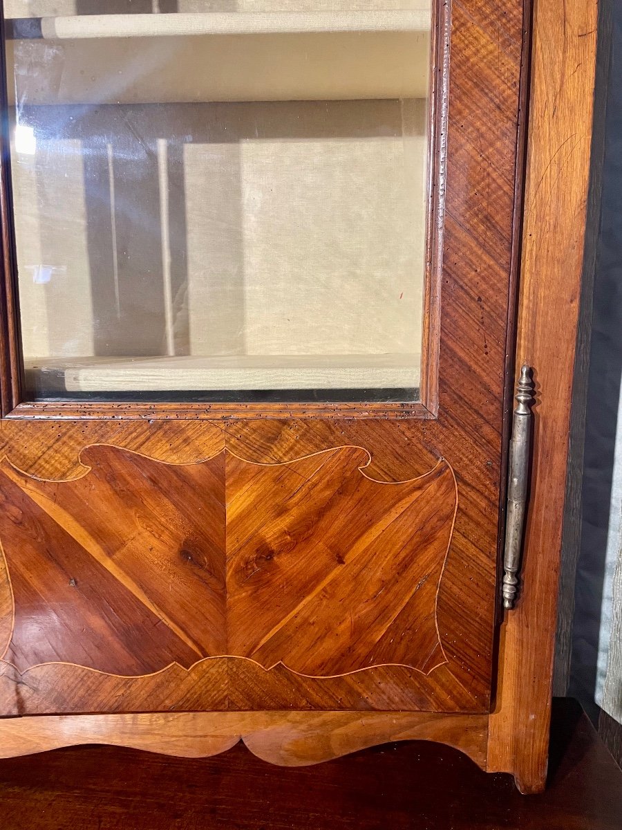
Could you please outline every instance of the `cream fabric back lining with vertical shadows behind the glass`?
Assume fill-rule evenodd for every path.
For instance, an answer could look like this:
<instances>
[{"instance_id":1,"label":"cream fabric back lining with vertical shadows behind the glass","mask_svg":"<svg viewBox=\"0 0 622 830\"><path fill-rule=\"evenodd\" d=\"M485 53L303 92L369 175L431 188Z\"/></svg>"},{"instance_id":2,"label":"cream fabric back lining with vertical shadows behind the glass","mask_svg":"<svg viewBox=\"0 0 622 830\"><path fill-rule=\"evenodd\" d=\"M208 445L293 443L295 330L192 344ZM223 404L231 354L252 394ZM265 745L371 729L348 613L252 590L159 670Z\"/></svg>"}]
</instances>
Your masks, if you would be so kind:
<instances>
[{"instance_id":1,"label":"cream fabric back lining with vertical shadows behind the glass","mask_svg":"<svg viewBox=\"0 0 622 830\"><path fill-rule=\"evenodd\" d=\"M305 383L347 388L358 373L411 387L425 112L423 100L25 110L22 125L59 136L13 147L27 359L295 355L313 369L371 355L371 374L356 358Z\"/></svg>"}]
</instances>

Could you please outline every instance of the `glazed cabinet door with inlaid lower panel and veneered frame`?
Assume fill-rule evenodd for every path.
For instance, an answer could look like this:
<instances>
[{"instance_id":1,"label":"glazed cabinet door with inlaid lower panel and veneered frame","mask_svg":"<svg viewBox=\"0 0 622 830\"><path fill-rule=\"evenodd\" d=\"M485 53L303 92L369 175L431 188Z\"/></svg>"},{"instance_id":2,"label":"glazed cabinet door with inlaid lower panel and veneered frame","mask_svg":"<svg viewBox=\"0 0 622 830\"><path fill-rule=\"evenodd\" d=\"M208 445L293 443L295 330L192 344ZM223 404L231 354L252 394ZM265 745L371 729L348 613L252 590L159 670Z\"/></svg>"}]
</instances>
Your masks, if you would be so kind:
<instances>
[{"instance_id":1,"label":"glazed cabinet door with inlaid lower panel and veneered frame","mask_svg":"<svg viewBox=\"0 0 622 830\"><path fill-rule=\"evenodd\" d=\"M4 2L0 715L488 712L522 0L113 5Z\"/></svg>"}]
</instances>

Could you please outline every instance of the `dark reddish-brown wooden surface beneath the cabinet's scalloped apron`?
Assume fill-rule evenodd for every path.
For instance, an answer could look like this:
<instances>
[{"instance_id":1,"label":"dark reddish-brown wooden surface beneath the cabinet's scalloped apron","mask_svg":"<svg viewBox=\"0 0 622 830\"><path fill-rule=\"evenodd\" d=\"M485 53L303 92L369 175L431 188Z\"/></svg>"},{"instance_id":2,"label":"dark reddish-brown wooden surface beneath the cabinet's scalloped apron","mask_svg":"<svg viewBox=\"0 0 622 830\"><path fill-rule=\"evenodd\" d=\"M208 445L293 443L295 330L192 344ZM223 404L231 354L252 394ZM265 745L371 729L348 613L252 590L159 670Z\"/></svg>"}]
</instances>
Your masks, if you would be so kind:
<instances>
[{"instance_id":1,"label":"dark reddish-brown wooden surface beneath the cabinet's scalloped apron","mask_svg":"<svg viewBox=\"0 0 622 830\"><path fill-rule=\"evenodd\" d=\"M0 828L620 830L622 771L573 701L554 711L540 796L423 741L302 769L271 767L241 745L201 760L93 746L0 762Z\"/></svg>"}]
</instances>

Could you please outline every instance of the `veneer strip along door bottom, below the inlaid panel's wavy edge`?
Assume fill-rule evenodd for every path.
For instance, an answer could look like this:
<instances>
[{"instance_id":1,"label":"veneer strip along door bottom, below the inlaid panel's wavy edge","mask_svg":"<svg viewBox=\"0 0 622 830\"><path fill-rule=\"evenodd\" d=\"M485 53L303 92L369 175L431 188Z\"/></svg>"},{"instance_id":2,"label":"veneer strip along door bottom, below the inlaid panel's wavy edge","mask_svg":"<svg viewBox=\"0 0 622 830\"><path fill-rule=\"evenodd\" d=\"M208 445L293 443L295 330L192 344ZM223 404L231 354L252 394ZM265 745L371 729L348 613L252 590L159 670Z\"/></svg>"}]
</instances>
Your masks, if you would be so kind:
<instances>
[{"instance_id":1,"label":"veneer strip along door bottom, below the inlaid panel's wavy edge","mask_svg":"<svg viewBox=\"0 0 622 830\"><path fill-rule=\"evenodd\" d=\"M3 715L205 710L485 711L456 687L446 664L430 676L406 666L377 666L338 677L266 671L240 657L213 657L190 669L173 664L152 674L119 677L69 663L19 672L0 661Z\"/></svg>"}]
</instances>

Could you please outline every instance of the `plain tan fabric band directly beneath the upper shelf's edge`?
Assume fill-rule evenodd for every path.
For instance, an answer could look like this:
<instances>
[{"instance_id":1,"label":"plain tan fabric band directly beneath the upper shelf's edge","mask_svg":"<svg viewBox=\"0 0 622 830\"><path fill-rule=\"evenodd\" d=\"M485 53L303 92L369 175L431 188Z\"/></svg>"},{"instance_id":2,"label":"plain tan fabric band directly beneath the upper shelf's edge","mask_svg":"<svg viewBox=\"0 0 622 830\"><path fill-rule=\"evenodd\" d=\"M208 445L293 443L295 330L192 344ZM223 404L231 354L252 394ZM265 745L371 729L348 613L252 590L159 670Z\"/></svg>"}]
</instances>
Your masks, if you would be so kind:
<instances>
[{"instance_id":1,"label":"plain tan fabric band directly beneath the upper shelf's edge","mask_svg":"<svg viewBox=\"0 0 622 830\"><path fill-rule=\"evenodd\" d=\"M11 104L424 98L429 56L429 32L7 41L7 80Z\"/></svg>"}]
</instances>

